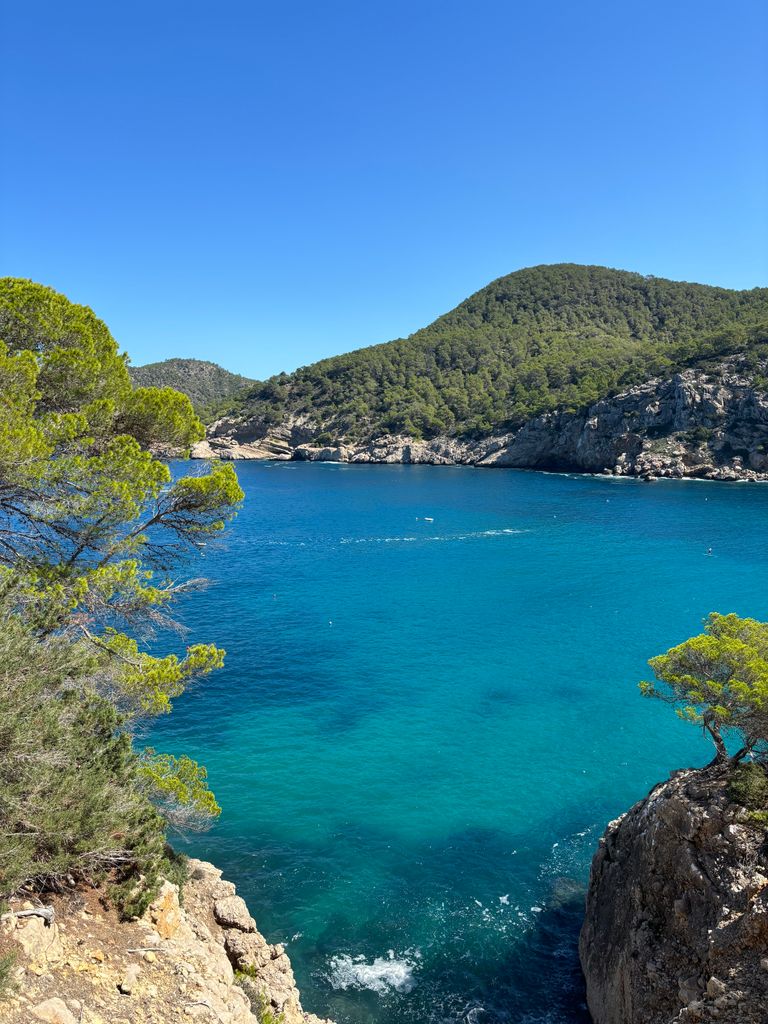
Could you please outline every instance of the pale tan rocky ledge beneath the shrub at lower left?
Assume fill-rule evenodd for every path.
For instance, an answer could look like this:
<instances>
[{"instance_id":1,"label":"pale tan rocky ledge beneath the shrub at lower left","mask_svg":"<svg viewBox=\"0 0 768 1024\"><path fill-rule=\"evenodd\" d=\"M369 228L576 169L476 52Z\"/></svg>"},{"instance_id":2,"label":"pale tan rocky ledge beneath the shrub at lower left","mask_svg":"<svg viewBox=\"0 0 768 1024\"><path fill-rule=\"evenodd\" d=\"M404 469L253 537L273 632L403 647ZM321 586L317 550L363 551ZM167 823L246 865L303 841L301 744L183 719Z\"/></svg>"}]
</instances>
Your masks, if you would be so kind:
<instances>
[{"instance_id":1,"label":"pale tan rocky ledge beneath the shrub at lower left","mask_svg":"<svg viewBox=\"0 0 768 1024\"><path fill-rule=\"evenodd\" d=\"M205 861L189 870L181 894L166 882L132 922L97 889L56 897L52 921L14 902L0 926L0 956L13 955L0 1020L332 1024L302 1010L285 949L258 932L234 886Z\"/></svg>"}]
</instances>

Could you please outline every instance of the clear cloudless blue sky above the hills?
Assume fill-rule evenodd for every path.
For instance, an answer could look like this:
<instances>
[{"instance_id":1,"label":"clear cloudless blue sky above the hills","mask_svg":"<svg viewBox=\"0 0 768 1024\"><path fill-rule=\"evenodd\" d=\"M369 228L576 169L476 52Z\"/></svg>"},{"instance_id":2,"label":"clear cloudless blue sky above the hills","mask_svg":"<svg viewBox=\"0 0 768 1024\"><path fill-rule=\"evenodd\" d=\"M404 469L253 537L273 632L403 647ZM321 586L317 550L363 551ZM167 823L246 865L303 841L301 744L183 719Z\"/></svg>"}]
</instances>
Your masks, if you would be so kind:
<instances>
[{"instance_id":1,"label":"clear cloudless blue sky above the hills","mask_svg":"<svg viewBox=\"0 0 768 1024\"><path fill-rule=\"evenodd\" d=\"M768 285L764 0L3 5L0 271L264 377L563 261Z\"/></svg>"}]
</instances>

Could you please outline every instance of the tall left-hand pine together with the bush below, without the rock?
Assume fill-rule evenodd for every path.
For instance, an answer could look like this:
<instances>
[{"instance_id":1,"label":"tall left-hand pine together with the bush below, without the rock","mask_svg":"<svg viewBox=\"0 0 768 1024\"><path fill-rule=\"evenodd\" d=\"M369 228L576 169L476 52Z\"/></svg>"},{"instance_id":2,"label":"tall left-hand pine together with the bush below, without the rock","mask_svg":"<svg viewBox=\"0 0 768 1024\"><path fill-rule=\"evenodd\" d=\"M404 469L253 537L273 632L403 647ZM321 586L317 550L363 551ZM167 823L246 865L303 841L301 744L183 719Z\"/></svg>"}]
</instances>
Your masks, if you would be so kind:
<instances>
[{"instance_id":1,"label":"tall left-hand pine together with the bush below, without the rock","mask_svg":"<svg viewBox=\"0 0 768 1024\"><path fill-rule=\"evenodd\" d=\"M171 602L190 586L171 570L218 535L243 498L231 466L174 478L159 458L183 453L203 433L185 395L132 387L125 356L90 309L31 282L0 281L2 639L10 664L13 652L30 650L30 673L19 675L24 685L9 684L15 696L0 716L0 778L14 777L13 751L51 785L45 766L59 764L63 777L70 765L72 779L90 781L71 786L82 799L66 802L65 817L87 835L90 800L93 821L112 821L118 861L130 860L131 828L136 843L152 847L144 842L147 829L158 830L150 800L186 825L218 813L201 766L151 751L138 756L130 742L138 717L170 711L191 680L223 660L213 644L194 644L182 656L146 649L157 627L173 625ZM25 716L40 726L28 748ZM96 784L104 771L106 790L124 798L112 816L106 790ZM38 803L19 794L2 807L2 840L10 842L0 848L0 895L19 878L18 865L11 871L3 860L13 842L31 845L25 862L39 880L83 866L75 841L60 856L51 853L60 847L57 826L49 815L31 817L32 806L41 815L50 807L50 792L45 784L33 791ZM146 813L131 811L116 828L118 805ZM97 847L95 862L109 854Z\"/></svg>"}]
</instances>

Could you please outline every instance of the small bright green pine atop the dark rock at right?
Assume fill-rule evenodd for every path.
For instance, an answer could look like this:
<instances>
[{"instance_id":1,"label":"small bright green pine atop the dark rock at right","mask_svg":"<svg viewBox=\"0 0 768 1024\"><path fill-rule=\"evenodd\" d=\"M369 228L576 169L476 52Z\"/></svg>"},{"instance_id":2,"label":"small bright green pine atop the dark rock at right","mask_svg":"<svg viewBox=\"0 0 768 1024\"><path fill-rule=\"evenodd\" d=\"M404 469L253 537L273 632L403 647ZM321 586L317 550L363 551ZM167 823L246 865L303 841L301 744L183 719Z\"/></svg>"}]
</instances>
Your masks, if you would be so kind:
<instances>
[{"instance_id":1,"label":"small bright green pine atop the dark rock at right","mask_svg":"<svg viewBox=\"0 0 768 1024\"><path fill-rule=\"evenodd\" d=\"M768 623L713 612L706 630L648 663L656 682L645 696L676 706L715 743L715 762L735 764L768 746ZM729 758L724 733L739 737Z\"/></svg>"}]
</instances>

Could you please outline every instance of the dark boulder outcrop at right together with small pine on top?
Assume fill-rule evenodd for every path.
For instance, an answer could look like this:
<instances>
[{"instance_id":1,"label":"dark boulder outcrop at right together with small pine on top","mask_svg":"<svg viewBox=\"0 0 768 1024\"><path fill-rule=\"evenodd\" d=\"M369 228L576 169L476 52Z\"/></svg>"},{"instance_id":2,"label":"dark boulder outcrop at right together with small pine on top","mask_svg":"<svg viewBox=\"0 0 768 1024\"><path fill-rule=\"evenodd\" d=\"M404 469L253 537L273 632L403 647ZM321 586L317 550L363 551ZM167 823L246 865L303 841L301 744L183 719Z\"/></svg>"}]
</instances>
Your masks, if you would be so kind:
<instances>
[{"instance_id":1,"label":"dark boulder outcrop at right together with small pine on top","mask_svg":"<svg viewBox=\"0 0 768 1024\"><path fill-rule=\"evenodd\" d=\"M590 1013L595 1024L763 1024L768 624L713 614L650 665L643 692L700 727L715 757L655 786L601 840L580 941Z\"/></svg>"}]
</instances>

